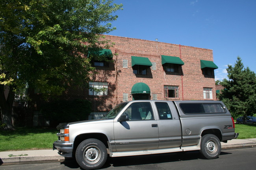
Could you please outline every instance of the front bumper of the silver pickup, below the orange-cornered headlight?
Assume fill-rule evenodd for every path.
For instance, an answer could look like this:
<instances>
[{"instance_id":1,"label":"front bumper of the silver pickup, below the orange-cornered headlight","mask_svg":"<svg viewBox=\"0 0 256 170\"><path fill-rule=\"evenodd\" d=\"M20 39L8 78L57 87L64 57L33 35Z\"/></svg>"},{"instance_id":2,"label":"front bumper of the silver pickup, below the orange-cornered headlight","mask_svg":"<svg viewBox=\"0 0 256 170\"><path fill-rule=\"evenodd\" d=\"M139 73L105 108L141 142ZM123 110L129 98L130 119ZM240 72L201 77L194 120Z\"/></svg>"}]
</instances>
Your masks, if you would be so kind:
<instances>
[{"instance_id":1,"label":"front bumper of the silver pickup, below the orange-cornered headlight","mask_svg":"<svg viewBox=\"0 0 256 170\"><path fill-rule=\"evenodd\" d=\"M57 149L58 154L64 157L72 157L73 143L63 143L60 141L55 141L53 143L53 150Z\"/></svg>"}]
</instances>

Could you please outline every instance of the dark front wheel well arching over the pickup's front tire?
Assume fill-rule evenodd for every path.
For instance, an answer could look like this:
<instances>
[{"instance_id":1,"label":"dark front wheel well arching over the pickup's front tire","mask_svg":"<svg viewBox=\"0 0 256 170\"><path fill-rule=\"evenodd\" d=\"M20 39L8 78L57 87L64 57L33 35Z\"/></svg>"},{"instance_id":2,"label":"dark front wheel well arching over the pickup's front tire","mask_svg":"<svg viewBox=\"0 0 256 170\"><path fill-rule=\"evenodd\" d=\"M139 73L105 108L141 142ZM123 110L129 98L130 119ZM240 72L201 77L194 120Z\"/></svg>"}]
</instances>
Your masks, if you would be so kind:
<instances>
[{"instance_id":1,"label":"dark front wheel well arching over the pickup's front tire","mask_svg":"<svg viewBox=\"0 0 256 170\"><path fill-rule=\"evenodd\" d=\"M106 135L102 133L85 133L85 134L80 134L76 136L74 140L73 155L76 153L76 148L78 147L78 145L85 139L90 139L90 138L98 139L102 141L102 143L105 144L106 148L108 148L108 137Z\"/></svg>"}]
</instances>

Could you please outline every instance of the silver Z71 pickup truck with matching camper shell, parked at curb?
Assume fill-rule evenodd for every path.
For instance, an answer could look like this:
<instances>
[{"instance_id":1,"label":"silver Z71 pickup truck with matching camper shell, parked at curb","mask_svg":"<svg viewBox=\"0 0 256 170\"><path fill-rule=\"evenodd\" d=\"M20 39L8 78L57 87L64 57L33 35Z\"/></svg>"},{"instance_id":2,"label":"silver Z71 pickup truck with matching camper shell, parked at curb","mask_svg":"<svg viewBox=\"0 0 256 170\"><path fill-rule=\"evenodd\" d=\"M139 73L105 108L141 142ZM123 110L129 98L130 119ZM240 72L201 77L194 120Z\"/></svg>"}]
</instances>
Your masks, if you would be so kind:
<instances>
[{"instance_id":1,"label":"silver Z71 pickup truck with matching camper shell, parked at curb","mask_svg":"<svg viewBox=\"0 0 256 170\"><path fill-rule=\"evenodd\" d=\"M122 102L101 119L61 123L58 154L75 157L86 170L108 157L199 150L206 159L221 152L221 141L238 137L221 101Z\"/></svg>"}]
</instances>

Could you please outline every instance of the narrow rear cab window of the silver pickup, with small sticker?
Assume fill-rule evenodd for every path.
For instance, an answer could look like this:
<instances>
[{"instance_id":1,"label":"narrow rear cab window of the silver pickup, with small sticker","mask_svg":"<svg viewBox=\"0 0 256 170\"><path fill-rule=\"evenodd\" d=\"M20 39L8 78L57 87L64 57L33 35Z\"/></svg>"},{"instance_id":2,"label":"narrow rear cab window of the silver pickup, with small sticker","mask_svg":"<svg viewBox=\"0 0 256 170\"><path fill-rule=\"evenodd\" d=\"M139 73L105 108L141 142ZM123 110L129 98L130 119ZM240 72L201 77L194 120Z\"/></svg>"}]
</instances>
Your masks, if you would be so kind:
<instances>
[{"instance_id":1,"label":"narrow rear cab window of the silver pickup, with small sticker","mask_svg":"<svg viewBox=\"0 0 256 170\"><path fill-rule=\"evenodd\" d=\"M167 102L155 102L159 119L173 119L171 110Z\"/></svg>"}]
</instances>

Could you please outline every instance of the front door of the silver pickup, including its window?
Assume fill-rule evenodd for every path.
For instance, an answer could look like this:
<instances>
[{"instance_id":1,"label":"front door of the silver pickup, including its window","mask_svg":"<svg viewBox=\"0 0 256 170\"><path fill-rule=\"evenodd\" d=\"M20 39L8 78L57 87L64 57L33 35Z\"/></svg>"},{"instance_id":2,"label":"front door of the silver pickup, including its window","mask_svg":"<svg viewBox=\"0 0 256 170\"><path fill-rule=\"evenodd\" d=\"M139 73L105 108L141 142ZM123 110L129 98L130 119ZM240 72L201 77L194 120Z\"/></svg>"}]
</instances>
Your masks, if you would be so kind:
<instances>
[{"instance_id":1,"label":"front door of the silver pickup, including its window","mask_svg":"<svg viewBox=\"0 0 256 170\"><path fill-rule=\"evenodd\" d=\"M158 148L158 121L150 102L133 102L122 115L129 120L114 122L117 151Z\"/></svg>"}]
</instances>

